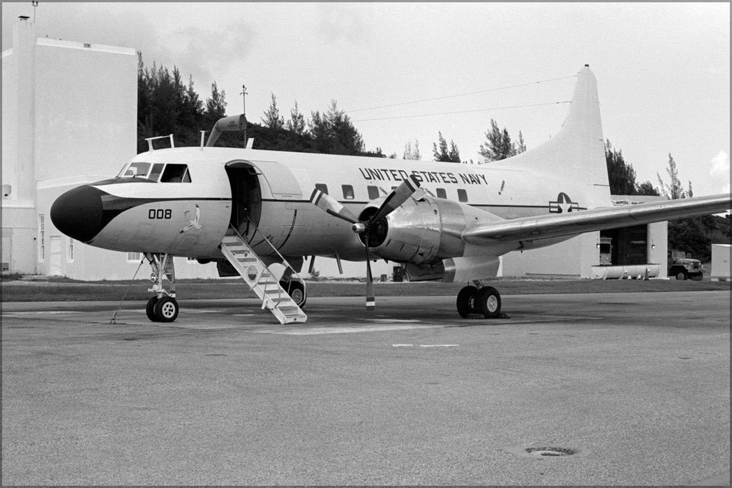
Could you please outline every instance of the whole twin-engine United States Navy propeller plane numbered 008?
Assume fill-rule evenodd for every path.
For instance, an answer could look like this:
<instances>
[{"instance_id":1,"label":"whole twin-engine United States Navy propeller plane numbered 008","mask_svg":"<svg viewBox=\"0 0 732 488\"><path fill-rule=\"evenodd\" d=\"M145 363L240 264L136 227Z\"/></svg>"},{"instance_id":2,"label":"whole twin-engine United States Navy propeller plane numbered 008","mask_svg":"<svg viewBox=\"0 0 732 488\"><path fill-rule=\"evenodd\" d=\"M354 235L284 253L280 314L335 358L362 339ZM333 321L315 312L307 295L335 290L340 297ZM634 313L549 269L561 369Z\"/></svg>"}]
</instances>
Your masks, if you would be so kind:
<instances>
[{"instance_id":1,"label":"whole twin-engine United States Navy propeller plane numbered 008","mask_svg":"<svg viewBox=\"0 0 732 488\"><path fill-rule=\"evenodd\" d=\"M467 282L463 317L498 317L482 280L498 257L580 233L714 214L730 195L613 207L594 74L578 73L567 119L546 143L486 165L214 147L244 116L217 122L206 145L152 149L116 178L61 195L53 225L86 244L142 252L152 266L150 320L170 322L173 255L239 275L280 323L305 322L304 257L405 263L412 281ZM171 136L171 145L173 139ZM312 267L313 261L310 261ZM474 283L470 284L470 283Z\"/></svg>"}]
</instances>

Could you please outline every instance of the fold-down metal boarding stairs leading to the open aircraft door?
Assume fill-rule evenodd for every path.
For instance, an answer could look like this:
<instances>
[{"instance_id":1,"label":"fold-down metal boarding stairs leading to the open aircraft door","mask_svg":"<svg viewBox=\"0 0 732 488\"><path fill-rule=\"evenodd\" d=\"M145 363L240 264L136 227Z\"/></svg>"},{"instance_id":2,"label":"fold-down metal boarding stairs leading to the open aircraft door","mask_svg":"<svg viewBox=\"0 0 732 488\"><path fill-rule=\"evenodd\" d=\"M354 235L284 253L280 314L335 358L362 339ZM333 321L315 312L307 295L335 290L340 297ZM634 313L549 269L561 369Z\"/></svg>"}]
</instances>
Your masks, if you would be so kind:
<instances>
[{"instance_id":1,"label":"fold-down metal boarding stairs leading to the open aircraft door","mask_svg":"<svg viewBox=\"0 0 732 488\"><path fill-rule=\"evenodd\" d=\"M272 246L266 238L264 240ZM275 247L272 246L272 249ZM276 274L278 269L291 267L285 258L280 255L284 266L272 265L270 266L272 269L268 268L233 227L229 227L221 242L221 252L262 301L263 310L268 309L282 324L303 323L307 320L305 312L302 312L287 291L280 286L281 275ZM277 254L279 255L279 252Z\"/></svg>"}]
</instances>

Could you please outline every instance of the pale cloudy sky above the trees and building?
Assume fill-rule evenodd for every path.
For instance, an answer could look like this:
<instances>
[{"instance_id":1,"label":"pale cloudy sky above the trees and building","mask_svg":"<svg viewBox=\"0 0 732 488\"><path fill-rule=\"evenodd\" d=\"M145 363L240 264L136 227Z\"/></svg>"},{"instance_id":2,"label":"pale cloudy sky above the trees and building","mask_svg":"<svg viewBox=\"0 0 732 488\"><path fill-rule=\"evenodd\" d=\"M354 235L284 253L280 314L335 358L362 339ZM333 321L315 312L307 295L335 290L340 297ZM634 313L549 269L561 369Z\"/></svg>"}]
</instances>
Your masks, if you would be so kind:
<instances>
[{"instance_id":1,"label":"pale cloudy sky above the trees and building","mask_svg":"<svg viewBox=\"0 0 732 488\"><path fill-rule=\"evenodd\" d=\"M427 160L441 132L477 161L490 119L545 142L589 64L605 138L639 183L668 183L671 154L696 196L730 191L729 3L3 2L3 50L18 15L39 37L174 65L204 100L215 81L229 115L245 85L250 122L272 94L285 119L335 100L367 150L402 157L418 141Z\"/></svg>"}]
</instances>

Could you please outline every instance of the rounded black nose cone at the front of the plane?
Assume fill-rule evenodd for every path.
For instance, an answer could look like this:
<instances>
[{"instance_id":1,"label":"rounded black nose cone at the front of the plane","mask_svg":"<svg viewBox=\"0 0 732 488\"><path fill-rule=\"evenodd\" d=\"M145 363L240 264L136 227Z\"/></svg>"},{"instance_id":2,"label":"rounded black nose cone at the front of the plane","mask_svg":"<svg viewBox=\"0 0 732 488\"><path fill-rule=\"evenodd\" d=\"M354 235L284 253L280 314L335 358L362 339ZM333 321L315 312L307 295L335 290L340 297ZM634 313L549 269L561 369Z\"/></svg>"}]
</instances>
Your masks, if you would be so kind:
<instances>
[{"instance_id":1,"label":"rounded black nose cone at the front of the plane","mask_svg":"<svg viewBox=\"0 0 732 488\"><path fill-rule=\"evenodd\" d=\"M56 198L51 222L70 238L89 242L102 230L102 210L102 192L83 185Z\"/></svg>"}]
</instances>

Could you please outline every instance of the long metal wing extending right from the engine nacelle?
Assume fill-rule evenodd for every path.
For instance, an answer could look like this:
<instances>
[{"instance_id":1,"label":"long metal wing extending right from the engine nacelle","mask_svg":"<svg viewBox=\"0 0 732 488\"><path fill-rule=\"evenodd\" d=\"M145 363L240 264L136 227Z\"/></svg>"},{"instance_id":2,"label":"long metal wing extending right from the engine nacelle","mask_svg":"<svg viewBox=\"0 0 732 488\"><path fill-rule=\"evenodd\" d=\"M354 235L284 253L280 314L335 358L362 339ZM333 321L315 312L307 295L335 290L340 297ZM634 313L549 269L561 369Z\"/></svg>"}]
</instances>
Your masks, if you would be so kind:
<instances>
[{"instance_id":1,"label":"long metal wing extending right from the engine nacelle","mask_svg":"<svg viewBox=\"0 0 732 488\"><path fill-rule=\"evenodd\" d=\"M461 237L463 241L477 245L506 241L533 241L573 236L593 230L607 230L662 220L717 214L731 208L730 194L682 198L479 223L463 230Z\"/></svg>"}]
</instances>

